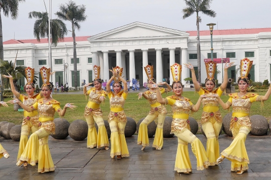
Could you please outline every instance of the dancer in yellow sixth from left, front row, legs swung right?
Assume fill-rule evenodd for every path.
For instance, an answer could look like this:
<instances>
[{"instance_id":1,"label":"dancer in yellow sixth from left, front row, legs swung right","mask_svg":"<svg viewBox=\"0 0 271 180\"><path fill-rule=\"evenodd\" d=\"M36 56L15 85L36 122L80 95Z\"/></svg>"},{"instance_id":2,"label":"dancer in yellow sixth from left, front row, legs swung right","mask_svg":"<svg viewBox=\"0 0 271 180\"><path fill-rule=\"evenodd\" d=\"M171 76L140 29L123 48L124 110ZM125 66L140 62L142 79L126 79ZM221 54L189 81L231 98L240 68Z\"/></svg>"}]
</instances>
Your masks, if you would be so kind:
<instances>
[{"instance_id":1,"label":"dancer in yellow sixth from left, front row, legs swung right","mask_svg":"<svg viewBox=\"0 0 271 180\"><path fill-rule=\"evenodd\" d=\"M197 158L197 170L203 170L209 165L207 153L201 141L190 131L189 112L198 111L201 100L204 98L200 96L196 105L190 99L183 97L183 84L181 80L181 68L179 64L175 63L171 67L173 76L172 89L174 95L162 98L159 89L157 92L157 100L161 104L169 104L173 111L173 121L171 124L171 132L178 137L178 149L176 154L175 168L178 173L189 174L192 172L192 166L188 153L188 143L191 143L192 152ZM157 84L150 85L152 88L157 88Z\"/></svg>"}]
</instances>

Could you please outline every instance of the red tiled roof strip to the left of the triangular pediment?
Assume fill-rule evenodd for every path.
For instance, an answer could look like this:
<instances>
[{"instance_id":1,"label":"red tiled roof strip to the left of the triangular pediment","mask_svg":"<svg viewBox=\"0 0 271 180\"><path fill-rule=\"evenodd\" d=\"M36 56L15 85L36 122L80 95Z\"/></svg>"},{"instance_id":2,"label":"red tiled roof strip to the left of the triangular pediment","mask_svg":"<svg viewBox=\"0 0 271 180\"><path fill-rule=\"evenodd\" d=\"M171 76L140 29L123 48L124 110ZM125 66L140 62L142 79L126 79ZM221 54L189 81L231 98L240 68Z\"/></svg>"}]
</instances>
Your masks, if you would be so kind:
<instances>
[{"instance_id":1,"label":"red tiled roof strip to the left of the triangular pediment","mask_svg":"<svg viewBox=\"0 0 271 180\"><path fill-rule=\"evenodd\" d=\"M75 37L75 41L76 42L78 42L78 41L87 41L88 37L90 37L90 36L78 36L78 37ZM64 38L64 40L61 41L61 42L73 42L73 38L72 37L67 37L67 38ZM21 43L33 43L33 44L48 43L48 39L47 38L41 39L40 42L38 42L37 39L31 39L31 40L8 40L8 41L3 42L4 45L7 45L7 44L21 44Z\"/></svg>"}]
</instances>

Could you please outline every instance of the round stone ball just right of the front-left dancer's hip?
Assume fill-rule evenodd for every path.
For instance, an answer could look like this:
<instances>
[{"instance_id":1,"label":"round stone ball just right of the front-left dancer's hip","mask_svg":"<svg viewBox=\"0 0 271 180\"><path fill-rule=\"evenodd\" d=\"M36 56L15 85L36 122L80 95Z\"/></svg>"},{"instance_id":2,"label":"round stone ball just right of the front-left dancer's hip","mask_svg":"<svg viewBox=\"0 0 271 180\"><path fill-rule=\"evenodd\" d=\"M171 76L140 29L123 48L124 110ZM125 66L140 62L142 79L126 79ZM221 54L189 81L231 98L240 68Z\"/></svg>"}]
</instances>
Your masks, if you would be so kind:
<instances>
[{"instance_id":1,"label":"round stone ball just right of the front-left dancer's hip","mask_svg":"<svg viewBox=\"0 0 271 180\"><path fill-rule=\"evenodd\" d=\"M65 139L68 137L70 123L67 119L55 118L54 123L56 125L56 131L55 134L51 134L51 136L55 139Z\"/></svg>"}]
</instances>

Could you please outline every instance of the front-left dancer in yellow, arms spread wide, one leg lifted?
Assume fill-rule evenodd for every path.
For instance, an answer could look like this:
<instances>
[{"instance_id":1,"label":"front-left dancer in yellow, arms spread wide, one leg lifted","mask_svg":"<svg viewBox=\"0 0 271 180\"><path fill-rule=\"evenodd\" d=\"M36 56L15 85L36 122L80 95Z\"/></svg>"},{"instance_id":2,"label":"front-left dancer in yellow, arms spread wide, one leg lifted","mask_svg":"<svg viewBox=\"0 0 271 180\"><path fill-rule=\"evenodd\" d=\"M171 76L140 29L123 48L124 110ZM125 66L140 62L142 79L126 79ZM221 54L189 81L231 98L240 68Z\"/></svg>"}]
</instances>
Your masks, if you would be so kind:
<instances>
[{"instance_id":1,"label":"front-left dancer in yellow, arms spread wide, one leg lifted","mask_svg":"<svg viewBox=\"0 0 271 180\"><path fill-rule=\"evenodd\" d=\"M55 170L54 162L48 146L48 136L55 133L54 114L55 112L58 112L60 116L64 116L67 108L75 108L75 106L67 103L62 110L60 103L51 97L52 85L49 83L50 68L47 69L42 67L40 72L44 83L42 85L42 94L44 97L39 99L32 106L27 106L18 99L11 100L10 103L18 103L28 112L35 110L39 111L39 130L32 133L29 137L26 148L18 160L17 165L20 166L25 161L31 165L36 165L35 154L38 150L36 142L39 139L38 172L43 173Z\"/></svg>"}]
</instances>

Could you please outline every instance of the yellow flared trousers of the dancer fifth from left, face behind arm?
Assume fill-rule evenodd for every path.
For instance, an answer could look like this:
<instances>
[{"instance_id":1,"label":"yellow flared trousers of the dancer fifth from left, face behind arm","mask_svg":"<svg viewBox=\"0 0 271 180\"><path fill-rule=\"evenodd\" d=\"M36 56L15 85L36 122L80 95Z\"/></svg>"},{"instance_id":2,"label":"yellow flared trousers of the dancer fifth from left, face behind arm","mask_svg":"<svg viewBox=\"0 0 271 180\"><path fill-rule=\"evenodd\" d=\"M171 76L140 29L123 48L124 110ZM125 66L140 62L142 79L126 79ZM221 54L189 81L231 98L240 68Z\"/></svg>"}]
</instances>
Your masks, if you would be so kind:
<instances>
[{"instance_id":1,"label":"yellow flared trousers of the dancer fifth from left, face behind arm","mask_svg":"<svg viewBox=\"0 0 271 180\"><path fill-rule=\"evenodd\" d=\"M166 115L159 113L159 111L156 111L153 114L148 114L148 116L141 122L140 128L139 128L139 135L138 135L138 144L142 144L143 146L149 146L147 126L151 122L153 122L157 117L158 117L158 123L157 123L153 147L161 150L163 146L163 126L164 126Z\"/></svg>"}]
</instances>

